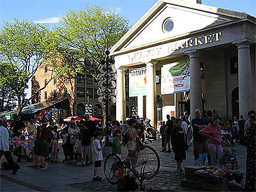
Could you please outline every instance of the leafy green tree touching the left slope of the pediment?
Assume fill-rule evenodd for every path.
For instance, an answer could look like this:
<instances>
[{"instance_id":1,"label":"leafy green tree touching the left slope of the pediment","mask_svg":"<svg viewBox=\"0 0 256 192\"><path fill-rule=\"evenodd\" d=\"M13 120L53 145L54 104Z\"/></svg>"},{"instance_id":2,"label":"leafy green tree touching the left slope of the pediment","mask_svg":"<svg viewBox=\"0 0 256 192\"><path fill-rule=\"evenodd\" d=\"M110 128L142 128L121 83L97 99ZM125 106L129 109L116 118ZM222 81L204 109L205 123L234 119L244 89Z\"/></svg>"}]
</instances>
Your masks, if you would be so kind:
<instances>
[{"instance_id":1,"label":"leafy green tree touching the left slope of the pediment","mask_svg":"<svg viewBox=\"0 0 256 192\"><path fill-rule=\"evenodd\" d=\"M69 11L60 23L55 32L64 55L92 74L94 80L105 51L129 30L126 18L99 6Z\"/></svg>"}]
</instances>

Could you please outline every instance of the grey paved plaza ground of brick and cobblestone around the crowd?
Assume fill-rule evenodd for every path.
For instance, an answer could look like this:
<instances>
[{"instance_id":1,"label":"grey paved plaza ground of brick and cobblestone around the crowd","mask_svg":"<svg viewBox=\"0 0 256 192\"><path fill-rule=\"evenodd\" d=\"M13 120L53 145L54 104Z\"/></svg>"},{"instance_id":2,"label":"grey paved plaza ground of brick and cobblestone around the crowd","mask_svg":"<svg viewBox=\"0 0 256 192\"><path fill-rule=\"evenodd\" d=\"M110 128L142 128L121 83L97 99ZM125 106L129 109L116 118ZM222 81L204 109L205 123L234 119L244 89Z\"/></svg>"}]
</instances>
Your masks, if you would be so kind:
<instances>
[{"instance_id":1,"label":"grey paved plaza ground of brick and cobblestone around the crowd","mask_svg":"<svg viewBox=\"0 0 256 192\"><path fill-rule=\"evenodd\" d=\"M184 173L176 171L174 153L162 153L161 140L149 144L157 150L161 160L160 172L156 177L146 181L148 187L158 191L195 191L193 188L181 187L181 180L185 178ZM61 149L61 148L60 148ZM237 145L235 147L239 168L245 172L246 148ZM193 163L193 147L190 147L187 160L182 167ZM104 148L104 156L111 152L110 147ZM127 156L127 149L122 146L123 157ZM99 169L99 176L103 178L100 182L93 182L93 166L76 166L61 163L63 152L58 153L59 163L48 163L48 169L35 170L28 165L32 162L22 161L19 163L21 169L12 175L11 171L1 170L1 191L116 191L117 185L111 185L106 179L103 167ZM16 158L15 158L16 160ZM102 163L103 165L103 163ZM196 190L199 191L199 190Z\"/></svg>"}]
</instances>

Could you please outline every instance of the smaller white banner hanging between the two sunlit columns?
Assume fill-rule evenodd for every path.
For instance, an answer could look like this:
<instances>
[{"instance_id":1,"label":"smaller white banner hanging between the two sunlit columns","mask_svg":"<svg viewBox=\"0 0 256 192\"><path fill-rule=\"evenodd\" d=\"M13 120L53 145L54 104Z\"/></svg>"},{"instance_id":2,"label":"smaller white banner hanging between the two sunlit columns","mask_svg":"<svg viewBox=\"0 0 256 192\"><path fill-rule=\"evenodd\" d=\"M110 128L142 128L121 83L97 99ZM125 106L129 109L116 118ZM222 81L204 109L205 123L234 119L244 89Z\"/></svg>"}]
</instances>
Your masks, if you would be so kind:
<instances>
[{"instance_id":1,"label":"smaller white banner hanging between the two sunlit columns","mask_svg":"<svg viewBox=\"0 0 256 192\"><path fill-rule=\"evenodd\" d=\"M129 97L138 95L146 95L146 67L129 73Z\"/></svg>"}]
</instances>

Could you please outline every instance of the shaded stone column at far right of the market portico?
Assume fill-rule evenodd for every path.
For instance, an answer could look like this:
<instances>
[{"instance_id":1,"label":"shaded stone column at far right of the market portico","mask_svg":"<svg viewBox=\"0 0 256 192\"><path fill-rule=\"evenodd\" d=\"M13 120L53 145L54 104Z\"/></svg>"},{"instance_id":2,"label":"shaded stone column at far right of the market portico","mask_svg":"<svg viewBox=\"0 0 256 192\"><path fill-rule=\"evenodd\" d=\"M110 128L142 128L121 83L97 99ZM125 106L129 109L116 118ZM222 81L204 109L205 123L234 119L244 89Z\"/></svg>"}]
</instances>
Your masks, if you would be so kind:
<instances>
[{"instance_id":1,"label":"shaded stone column at far right of the market portico","mask_svg":"<svg viewBox=\"0 0 256 192\"><path fill-rule=\"evenodd\" d=\"M248 111L254 108L252 99L252 71L249 42L237 43L238 46L238 84L239 84L239 114L248 117Z\"/></svg>"}]
</instances>

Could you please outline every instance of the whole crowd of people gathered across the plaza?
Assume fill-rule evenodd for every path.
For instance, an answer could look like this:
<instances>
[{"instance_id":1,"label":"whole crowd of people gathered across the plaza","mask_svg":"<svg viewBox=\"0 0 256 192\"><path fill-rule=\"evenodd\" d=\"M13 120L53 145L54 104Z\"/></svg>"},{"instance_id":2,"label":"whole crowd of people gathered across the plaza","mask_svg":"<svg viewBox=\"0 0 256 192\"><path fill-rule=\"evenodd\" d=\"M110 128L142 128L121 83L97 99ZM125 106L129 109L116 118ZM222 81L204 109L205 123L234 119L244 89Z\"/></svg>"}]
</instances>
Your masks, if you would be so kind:
<instances>
[{"instance_id":1,"label":"whole crowd of people gathered across the plaza","mask_svg":"<svg viewBox=\"0 0 256 192\"><path fill-rule=\"evenodd\" d=\"M19 139L24 143L26 138L22 133L26 132L28 149L33 150L35 169L47 168L45 158L48 162L58 162L58 141L61 139L64 153L62 162L75 163L79 166L90 166L94 162L93 181L101 181L98 168L101 167L103 160L102 149L105 141L112 146L112 152L121 158L121 144L127 146L131 157L137 147L138 137L146 143L158 140L161 136L163 147L161 152L174 152L177 171L182 172L184 171L182 161L186 159L186 150L191 146L195 161L205 153L208 156L203 159L204 163L208 159L208 165L223 165L222 141L223 138L227 138L231 144L239 142L247 147L246 187L247 189L252 187L251 182L255 183L255 112L248 112L247 121L242 116L240 119L234 117L233 121L223 121L215 110L201 112L196 109L195 115L194 119L190 119L187 112L179 118L167 115L167 121L159 122L157 127L151 125L150 119L136 117L124 122L110 122L108 128L101 128L100 124L96 125L89 119L88 114L85 114L85 119L82 121L71 119L68 124L63 125L54 125L49 119L42 118L36 124L32 119L25 126L20 117L17 117L12 124L1 121L1 163L5 158L13 173L18 171L20 167L13 161L10 153L11 141ZM27 149L26 146L24 148ZM138 157L138 154L135 155L132 163L136 163L136 156ZM39 158L40 165L38 165ZM252 189L255 189L255 186Z\"/></svg>"}]
</instances>

